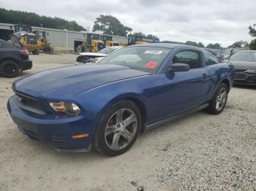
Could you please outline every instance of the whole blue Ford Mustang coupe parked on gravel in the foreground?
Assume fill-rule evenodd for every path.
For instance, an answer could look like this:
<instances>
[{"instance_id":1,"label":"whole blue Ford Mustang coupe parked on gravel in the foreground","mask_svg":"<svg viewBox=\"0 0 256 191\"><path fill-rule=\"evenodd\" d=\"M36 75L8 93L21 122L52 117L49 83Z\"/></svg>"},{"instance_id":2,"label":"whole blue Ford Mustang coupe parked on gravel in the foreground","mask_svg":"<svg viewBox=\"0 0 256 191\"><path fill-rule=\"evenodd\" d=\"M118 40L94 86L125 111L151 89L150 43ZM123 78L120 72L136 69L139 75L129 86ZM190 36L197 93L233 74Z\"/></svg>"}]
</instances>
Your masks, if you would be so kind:
<instances>
[{"instance_id":1,"label":"whole blue Ford Mustang coupe parked on gravel in the foreground","mask_svg":"<svg viewBox=\"0 0 256 191\"><path fill-rule=\"evenodd\" d=\"M19 79L7 107L31 139L59 150L120 155L144 130L200 109L222 112L233 74L230 63L197 47L140 44L98 64Z\"/></svg>"}]
</instances>

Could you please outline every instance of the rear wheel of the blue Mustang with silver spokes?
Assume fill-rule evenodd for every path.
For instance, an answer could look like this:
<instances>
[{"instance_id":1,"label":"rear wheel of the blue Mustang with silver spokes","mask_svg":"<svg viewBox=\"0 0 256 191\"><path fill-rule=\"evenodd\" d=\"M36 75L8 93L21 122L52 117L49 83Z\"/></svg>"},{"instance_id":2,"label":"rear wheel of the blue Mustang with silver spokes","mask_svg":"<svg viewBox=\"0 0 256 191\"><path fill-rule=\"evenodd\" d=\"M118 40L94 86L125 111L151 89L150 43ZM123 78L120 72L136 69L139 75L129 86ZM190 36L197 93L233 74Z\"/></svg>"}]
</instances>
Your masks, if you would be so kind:
<instances>
[{"instance_id":1,"label":"rear wheel of the blue Mustang with silver spokes","mask_svg":"<svg viewBox=\"0 0 256 191\"><path fill-rule=\"evenodd\" d=\"M227 85L225 85L224 83L219 85L216 92L214 93L214 97L209 102L209 106L206 109L206 112L210 114L220 114L227 103L228 92L229 89Z\"/></svg>"}]
</instances>

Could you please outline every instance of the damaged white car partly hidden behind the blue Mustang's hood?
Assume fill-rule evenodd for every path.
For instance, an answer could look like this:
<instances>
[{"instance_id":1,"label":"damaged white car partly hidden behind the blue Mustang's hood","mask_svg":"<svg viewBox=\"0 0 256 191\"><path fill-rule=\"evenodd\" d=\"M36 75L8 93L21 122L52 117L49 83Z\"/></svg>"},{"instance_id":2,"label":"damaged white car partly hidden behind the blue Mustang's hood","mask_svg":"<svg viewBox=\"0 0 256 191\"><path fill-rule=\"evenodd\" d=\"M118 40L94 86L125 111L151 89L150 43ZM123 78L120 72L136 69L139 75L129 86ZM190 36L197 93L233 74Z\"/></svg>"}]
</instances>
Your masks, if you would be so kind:
<instances>
[{"instance_id":1,"label":"damaged white car partly hidden behind the blue Mustang's hood","mask_svg":"<svg viewBox=\"0 0 256 191\"><path fill-rule=\"evenodd\" d=\"M76 58L75 65L82 65L85 63L97 63L105 58L107 55L115 50L121 48L120 46L105 47L99 52L81 52L78 58Z\"/></svg>"}]
</instances>

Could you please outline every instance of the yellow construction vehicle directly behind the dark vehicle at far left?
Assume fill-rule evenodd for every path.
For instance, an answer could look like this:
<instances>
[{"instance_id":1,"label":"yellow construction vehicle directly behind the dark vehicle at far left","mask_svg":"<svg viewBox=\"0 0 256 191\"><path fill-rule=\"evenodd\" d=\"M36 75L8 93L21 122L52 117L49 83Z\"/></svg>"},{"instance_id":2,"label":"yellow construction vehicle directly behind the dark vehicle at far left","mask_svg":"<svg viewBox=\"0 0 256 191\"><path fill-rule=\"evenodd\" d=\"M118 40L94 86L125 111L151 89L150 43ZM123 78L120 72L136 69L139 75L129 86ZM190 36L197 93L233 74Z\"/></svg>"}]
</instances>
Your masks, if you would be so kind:
<instances>
[{"instance_id":1,"label":"yellow construction vehicle directly behind the dark vehicle at far left","mask_svg":"<svg viewBox=\"0 0 256 191\"><path fill-rule=\"evenodd\" d=\"M18 44L20 47L26 47L29 52L38 55L40 47L37 42L37 36L31 31L31 26L15 25L15 34L11 34L10 39L13 43Z\"/></svg>"}]
</instances>

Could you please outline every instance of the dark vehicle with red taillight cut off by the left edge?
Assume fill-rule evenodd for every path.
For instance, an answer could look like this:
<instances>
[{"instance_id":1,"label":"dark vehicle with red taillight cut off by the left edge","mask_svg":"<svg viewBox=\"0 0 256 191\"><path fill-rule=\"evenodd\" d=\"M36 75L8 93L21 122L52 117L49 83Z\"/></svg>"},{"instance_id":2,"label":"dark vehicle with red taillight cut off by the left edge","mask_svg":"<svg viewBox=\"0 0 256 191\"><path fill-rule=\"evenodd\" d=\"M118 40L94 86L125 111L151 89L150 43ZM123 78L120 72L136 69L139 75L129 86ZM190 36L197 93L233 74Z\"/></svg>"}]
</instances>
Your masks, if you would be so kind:
<instances>
[{"instance_id":1,"label":"dark vehicle with red taillight cut off by the left edge","mask_svg":"<svg viewBox=\"0 0 256 191\"><path fill-rule=\"evenodd\" d=\"M31 69L29 51L15 47L10 42L0 39L0 74L2 77L16 77L21 71Z\"/></svg>"}]
</instances>

